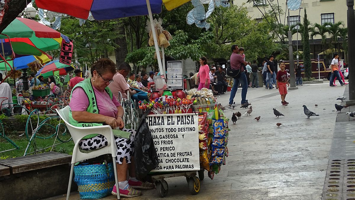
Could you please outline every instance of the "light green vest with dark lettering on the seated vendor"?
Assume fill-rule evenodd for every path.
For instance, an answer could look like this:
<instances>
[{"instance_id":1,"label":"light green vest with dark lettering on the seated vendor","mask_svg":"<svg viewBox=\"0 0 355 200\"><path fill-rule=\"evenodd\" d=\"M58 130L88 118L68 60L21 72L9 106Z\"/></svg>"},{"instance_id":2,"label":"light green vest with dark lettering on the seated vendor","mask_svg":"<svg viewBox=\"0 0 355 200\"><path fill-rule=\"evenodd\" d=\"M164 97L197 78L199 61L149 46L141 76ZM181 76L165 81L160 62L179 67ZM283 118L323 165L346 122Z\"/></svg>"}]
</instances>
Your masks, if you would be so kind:
<instances>
[{"instance_id":1,"label":"light green vest with dark lettering on the seated vendor","mask_svg":"<svg viewBox=\"0 0 355 200\"><path fill-rule=\"evenodd\" d=\"M86 109L86 111L89 112L89 113L99 114L99 109L97 107L97 102L96 102L94 89L92 88L92 84L91 84L90 79L85 79L84 81L81 81L81 82L77 83L73 87L73 90L71 91L70 98L72 97L73 91L77 87L83 88L83 90L85 91L85 93L86 93L86 95L87 95L87 97L89 99L89 106ZM112 99L113 94L112 94L110 88L106 87L105 91L110 95L110 98ZM77 127L92 127L92 126L102 126L103 125L103 123L78 122L78 121L73 119L72 114L71 114L71 109L69 109L69 123L71 125L77 126ZM90 135L87 135L87 136L83 137L83 139L92 138L92 137L95 137L97 135L99 135L99 134L90 134Z\"/></svg>"}]
</instances>

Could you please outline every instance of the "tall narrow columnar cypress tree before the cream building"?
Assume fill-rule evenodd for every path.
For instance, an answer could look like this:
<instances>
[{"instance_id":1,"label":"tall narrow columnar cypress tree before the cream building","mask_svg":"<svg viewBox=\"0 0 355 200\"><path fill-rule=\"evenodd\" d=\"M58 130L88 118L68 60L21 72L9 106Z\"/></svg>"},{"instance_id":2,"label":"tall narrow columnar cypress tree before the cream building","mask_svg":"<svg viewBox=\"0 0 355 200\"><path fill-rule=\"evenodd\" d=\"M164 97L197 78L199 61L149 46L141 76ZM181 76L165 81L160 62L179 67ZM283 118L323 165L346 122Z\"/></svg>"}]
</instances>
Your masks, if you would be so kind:
<instances>
[{"instance_id":1,"label":"tall narrow columnar cypress tree before the cream building","mask_svg":"<svg viewBox=\"0 0 355 200\"><path fill-rule=\"evenodd\" d=\"M310 23L307 19L307 11L305 9L305 15L303 18L303 65L305 66L305 76L310 78L312 76L312 66L311 66L311 48L309 43L309 27Z\"/></svg>"}]
</instances>

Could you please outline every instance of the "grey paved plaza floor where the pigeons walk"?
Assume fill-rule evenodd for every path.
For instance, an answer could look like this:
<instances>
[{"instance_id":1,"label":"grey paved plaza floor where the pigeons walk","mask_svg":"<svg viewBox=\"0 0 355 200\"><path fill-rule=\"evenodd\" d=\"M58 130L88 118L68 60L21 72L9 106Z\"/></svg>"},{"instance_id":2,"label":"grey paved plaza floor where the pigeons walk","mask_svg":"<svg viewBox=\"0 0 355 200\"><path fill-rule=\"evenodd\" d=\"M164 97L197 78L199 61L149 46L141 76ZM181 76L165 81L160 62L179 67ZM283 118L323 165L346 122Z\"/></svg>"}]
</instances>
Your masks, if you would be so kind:
<instances>
[{"instance_id":1,"label":"grey paved plaza floor where the pigeons walk","mask_svg":"<svg viewBox=\"0 0 355 200\"><path fill-rule=\"evenodd\" d=\"M197 195L189 193L184 177L165 179L169 193L164 199L351 199L355 184L351 186L347 178L352 177L353 169L348 165L354 162L355 167L355 160L351 161L355 159L355 121L345 112L355 111L355 107L343 109L339 114L334 108L335 103L341 103L337 97L348 96L346 87L329 87L328 83L299 86L298 90L289 90L288 106L282 106L276 88L249 88L247 99L253 112L251 116L242 116L235 125L230 121L229 157L221 172L213 180L205 172ZM235 97L236 104L240 104L240 92L241 88ZM218 96L218 102L227 105L229 94ZM305 119L302 105L320 116ZM239 107L225 110L225 114L229 118L233 112L243 114L246 109ZM273 108L285 117L276 118ZM257 116L261 119L253 120ZM277 127L276 123L283 125ZM65 199L65 195L50 199ZM71 199L80 197L73 192ZM159 196L151 189L129 199L159 199Z\"/></svg>"}]
</instances>

